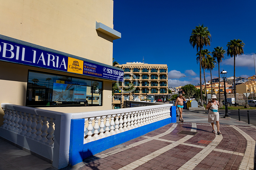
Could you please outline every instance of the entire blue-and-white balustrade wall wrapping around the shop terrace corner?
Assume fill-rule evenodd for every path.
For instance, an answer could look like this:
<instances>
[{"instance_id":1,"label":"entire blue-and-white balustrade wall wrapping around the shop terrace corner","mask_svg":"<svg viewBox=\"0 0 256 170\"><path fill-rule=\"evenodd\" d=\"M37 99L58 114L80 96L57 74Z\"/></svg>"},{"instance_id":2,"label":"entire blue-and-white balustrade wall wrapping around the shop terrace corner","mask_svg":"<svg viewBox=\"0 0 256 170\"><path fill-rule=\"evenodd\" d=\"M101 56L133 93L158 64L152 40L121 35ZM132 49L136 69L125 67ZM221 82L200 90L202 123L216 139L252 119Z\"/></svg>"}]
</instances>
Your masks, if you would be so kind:
<instances>
[{"instance_id":1,"label":"entire blue-and-white balustrade wall wrapping around the shop terrace corner","mask_svg":"<svg viewBox=\"0 0 256 170\"><path fill-rule=\"evenodd\" d=\"M60 113L1 104L5 115L0 136L61 169L176 122L176 108L171 105Z\"/></svg>"}]
</instances>

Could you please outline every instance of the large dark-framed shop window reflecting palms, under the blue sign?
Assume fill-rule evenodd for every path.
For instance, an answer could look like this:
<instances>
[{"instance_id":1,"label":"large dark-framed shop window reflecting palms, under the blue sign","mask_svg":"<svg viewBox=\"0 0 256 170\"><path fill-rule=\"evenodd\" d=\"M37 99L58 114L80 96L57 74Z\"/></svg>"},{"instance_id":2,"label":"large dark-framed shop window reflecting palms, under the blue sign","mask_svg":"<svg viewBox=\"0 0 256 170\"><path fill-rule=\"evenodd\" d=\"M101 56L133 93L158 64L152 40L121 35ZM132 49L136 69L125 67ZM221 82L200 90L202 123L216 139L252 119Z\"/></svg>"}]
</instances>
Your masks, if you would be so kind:
<instances>
[{"instance_id":1,"label":"large dark-framed shop window reflecting palms, under the blue sign","mask_svg":"<svg viewBox=\"0 0 256 170\"><path fill-rule=\"evenodd\" d=\"M102 82L30 71L26 106L102 106Z\"/></svg>"}]
</instances>

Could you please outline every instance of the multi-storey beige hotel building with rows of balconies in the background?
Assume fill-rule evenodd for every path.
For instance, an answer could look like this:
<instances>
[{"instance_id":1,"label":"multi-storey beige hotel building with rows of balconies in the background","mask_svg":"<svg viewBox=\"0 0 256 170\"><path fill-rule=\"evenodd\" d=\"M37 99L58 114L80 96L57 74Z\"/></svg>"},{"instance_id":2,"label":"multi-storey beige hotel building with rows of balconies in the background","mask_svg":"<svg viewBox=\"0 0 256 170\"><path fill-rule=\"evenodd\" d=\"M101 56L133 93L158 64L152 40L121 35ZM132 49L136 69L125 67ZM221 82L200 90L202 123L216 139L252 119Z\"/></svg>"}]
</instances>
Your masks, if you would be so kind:
<instances>
[{"instance_id":1,"label":"multi-storey beige hotel building with rows of balconies in the background","mask_svg":"<svg viewBox=\"0 0 256 170\"><path fill-rule=\"evenodd\" d=\"M120 89L115 91L113 107L119 108L123 100L149 101L151 96L153 100L168 99L167 64L127 62L120 64L119 67L124 70L124 82L120 84ZM133 85L132 89L127 88L130 84Z\"/></svg>"}]
</instances>

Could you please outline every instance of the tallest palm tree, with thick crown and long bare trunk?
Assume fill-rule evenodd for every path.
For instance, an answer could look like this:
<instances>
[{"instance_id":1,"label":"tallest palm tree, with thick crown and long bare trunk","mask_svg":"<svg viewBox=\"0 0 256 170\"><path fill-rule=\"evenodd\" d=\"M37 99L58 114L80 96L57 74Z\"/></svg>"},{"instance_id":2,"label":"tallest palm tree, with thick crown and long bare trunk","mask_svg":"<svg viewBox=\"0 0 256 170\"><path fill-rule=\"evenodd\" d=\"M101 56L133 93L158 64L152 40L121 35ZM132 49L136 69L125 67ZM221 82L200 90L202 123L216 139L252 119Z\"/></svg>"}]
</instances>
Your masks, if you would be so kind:
<instances>
[{"instance_id":1,"label":"tallest palm tree, with thick crown and long bare trunk","mask_svg":"<svg viewBox=\"0 0 256 170\"><path fill-rule=\"evenodd\" d=\"M193 48L196 46L196 52L198 52L199 48L199 65L200 65L200 99L201 99L201 106L204 106L203 104L203 95L202 95L202 71L201 71L201 51L203 49L203 46L210 45L211 41L211 34L208 31L207 27L204 27L204 24L202 26L196 26L194 30L192 30L191 36L189 38L189 43Z\"/></svg>"}]
</instances>

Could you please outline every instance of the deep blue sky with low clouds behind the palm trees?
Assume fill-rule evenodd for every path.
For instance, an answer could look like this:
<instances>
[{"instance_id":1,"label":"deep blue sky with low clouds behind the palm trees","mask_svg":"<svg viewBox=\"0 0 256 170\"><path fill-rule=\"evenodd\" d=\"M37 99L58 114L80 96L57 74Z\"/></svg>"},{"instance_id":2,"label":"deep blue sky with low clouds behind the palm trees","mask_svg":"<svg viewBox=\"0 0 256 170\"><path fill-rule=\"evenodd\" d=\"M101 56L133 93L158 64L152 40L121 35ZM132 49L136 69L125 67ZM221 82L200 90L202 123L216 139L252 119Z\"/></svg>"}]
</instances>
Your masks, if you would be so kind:
<instances>
[{"instance_id":1,"label":"deep blue sky with low clouds behind the palm trees","mask_svg":"<svg viewBox=\"0 0 256 170\"><path fill-rule=\"evenodd\" d=\"M199 83L196 48L189 43L192 29L198 24L208 27L213 51L217 46L227 50L227 42L241 39L244 55L236 58L236 76L255 75L256 1L153 1L114 0L114 29L122 38L113 41L113 58L119 64L144 62L167 64L168 85ZM256 58L256 55L255 55ZM234 59L225 54L220 70L234 75ZM218 77L218 67L212 78ZM206 81L210 80L206 71ZM203 71L202 71L202 82Z\"/></svg>"}]
</instances>

